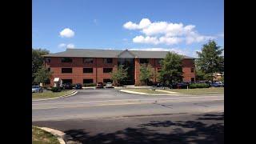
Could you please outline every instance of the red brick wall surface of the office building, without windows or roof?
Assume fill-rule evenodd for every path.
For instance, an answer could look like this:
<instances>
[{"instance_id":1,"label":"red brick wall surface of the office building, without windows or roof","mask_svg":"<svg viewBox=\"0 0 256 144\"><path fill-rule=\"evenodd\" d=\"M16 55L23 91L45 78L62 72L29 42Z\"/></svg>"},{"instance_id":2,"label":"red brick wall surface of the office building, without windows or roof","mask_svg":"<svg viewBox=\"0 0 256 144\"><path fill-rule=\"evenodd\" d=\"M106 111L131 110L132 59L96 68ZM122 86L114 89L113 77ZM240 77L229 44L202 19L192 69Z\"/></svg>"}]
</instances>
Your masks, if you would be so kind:
<instances>
[{"instance_id":1,"label":"red brick wall surface of the office building, without windows or roof","mask_svg":"<svg viewBox=\"0 0 256 144\"><path fill-rule=\"evenodd\" d=\"M72 79L73 83L83 83L83 79L94 79L94 83L103 82L104 78L110 78L110 74L103 73L103 68L113 68L113 70L117 70L118 66L118 58L113 58L113 63L106 64L103 62L103 58L94 58L94 63L86 64L83 63L83 58L72 58L73 62L61 62L61 58L50 58L50 63L46 63L46 67L50 67L50 70L53 71L52 78L50 79L50 85L54 85L54 78L61 79ZM134 67L134 79L135 85L140 85L139 82L139 70L140 63L139 58L135 58L135 67ZM150 58L150 65L152 66L152 70L157 73L158 68L161 66L158 64L157 59ZM97 66L97 68L96 68ZM183 81L190 82L191 78L195 78L195 71L191 73L191 67L194 67L194 60L192 59L183 59ZM71 74L62 74L62 68L72 68L73 72ZM84 74L83 68L92 67L94 72L92 74ZM97 70L97 77L96 77ZM97 79L96 79L97 78ZM157 80L156 77L152 79L153 82Z\"/></svg>"}]
</instances>

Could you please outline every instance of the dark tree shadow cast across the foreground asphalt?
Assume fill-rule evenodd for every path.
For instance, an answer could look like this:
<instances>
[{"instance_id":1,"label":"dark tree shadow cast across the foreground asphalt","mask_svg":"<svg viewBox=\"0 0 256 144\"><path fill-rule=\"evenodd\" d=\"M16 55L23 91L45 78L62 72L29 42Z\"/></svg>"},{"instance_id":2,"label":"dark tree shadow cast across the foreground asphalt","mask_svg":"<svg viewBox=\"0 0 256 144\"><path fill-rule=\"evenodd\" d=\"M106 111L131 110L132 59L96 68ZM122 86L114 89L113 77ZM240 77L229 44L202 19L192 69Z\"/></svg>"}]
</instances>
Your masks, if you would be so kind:
<instances>
[{"instance_id":1,"label":"dark tree shadow cast across the foreground asphalt","mask_svg":"<svg viewBox=\"0 0 256 144\"><path fill-rule=\"evenodd\" d=\"M224 114L204 114L195 121L152 121L136 128L128 127L109 134L91 136L86 130L66 130L68 141L79 143L224 143ZM203 121L220 121L207 125ZM172 127L175 126L175 127ZM159 133L150 128L174 128L170 133ZM192 129L184 131L184 129Z\"/></svg>"}]
</instances>

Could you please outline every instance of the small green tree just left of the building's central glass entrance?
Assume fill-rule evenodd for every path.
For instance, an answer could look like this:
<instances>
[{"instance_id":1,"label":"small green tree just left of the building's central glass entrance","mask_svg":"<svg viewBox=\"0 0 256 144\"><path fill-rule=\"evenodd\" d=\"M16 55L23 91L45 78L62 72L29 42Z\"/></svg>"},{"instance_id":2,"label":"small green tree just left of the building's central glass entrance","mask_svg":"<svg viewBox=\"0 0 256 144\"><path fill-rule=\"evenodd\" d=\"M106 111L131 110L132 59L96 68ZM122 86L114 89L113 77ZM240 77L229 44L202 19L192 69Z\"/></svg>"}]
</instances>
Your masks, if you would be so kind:
<instances>
[{"instance_id":1,"label":"small green tree just left of the building's central glass entrance","mask_svg":"<svg viewBox=\"0 0 256 144\"><path fill-rule=\"evenodd\" d=\"M120 86L120 82L128 77L127 70L128 68L125 69L122 65L119 65L118 70L115 70L111 73L111 79L113 80L114 85Z\"/></svg>"}]
</instances>

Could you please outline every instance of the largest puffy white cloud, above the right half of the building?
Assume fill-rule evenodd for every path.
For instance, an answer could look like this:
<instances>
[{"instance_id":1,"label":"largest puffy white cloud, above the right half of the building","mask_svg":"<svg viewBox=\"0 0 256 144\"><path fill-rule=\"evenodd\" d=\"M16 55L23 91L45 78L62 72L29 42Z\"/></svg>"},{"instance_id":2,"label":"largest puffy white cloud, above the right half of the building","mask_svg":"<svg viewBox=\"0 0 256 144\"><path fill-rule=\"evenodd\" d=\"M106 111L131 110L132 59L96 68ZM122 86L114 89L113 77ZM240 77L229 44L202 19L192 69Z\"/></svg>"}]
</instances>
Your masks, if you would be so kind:
<instances>
[{"instance_id":1,"label":"largest puffy white cloud, above the right half of the building","mask_svg":"<svg viewBox=\"0 0 256 144\"><path fill-rule=\"evenodd\" d=\"M190 44L193 42L204 42L214 38L212 36L198 34L194 30L194 25L184 26L182 23L150 22L148 18L142 18L138 24L126 22L123 27L128 30L139 30L142 34L145 34L145 36L139 35L133 38L133 42L136 43L174 45L186 40L186 43Z\"/></svg>"}]
</instances>

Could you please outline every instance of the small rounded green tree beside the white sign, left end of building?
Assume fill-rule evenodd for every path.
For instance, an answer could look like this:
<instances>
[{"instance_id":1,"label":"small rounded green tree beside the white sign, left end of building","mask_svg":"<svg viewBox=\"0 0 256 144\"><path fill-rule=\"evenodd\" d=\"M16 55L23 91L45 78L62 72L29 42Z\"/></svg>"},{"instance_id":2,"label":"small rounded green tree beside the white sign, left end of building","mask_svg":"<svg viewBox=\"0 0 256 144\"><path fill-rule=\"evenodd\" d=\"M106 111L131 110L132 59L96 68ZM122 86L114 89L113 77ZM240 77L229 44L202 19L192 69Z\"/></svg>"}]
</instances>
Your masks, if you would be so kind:
<instances>
[{"instance_id":1,"label":"small rounded green tree beside the white sign, left end of building","mask_svg":"<svg viewBox=\"0 0 256 144\"><path fill-rule=\"evenodd\" d=\"M35 83L42 83L43 85L46 82L50 82L52 72L47 70L44 66L41 66L40 69L34 73L34 82Z\"/></svg>"}]
</instances>

